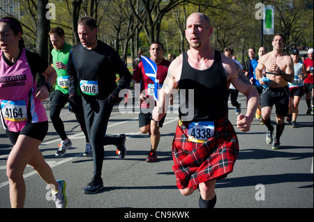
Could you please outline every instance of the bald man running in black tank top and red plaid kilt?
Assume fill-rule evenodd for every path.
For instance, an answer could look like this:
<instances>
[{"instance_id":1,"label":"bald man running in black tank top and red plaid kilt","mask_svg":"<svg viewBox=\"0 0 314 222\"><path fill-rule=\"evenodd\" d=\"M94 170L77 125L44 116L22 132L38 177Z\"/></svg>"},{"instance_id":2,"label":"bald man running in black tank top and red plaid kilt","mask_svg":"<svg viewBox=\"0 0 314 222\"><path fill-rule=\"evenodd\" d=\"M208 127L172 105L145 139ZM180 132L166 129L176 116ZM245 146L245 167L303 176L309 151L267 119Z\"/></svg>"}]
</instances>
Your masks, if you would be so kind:
<instances>
[{"instance_id":1,"label":"bald man running in black tank top and red plaid kilt","mask_svg":"<svg viewBox=\"0 0 314 222\"><path fill-rule=\"evenodd\" d=\"M211 48L212 33L209 17L202 13L188 17L186 39L190 49L172 61L153 111L154 120L161 120L172 90L179 88L180 120L172 142L172 169L181 194L188 196L200 189L201 208L215 206L216 180L233 171L239 152L237 135L227 119L230 83L247 97L246 115L237 116L241 132L250 130L259 102L257 90L239 65ZM185 112L187 103L193 104L193 109Z\"/></svg>"}]
</instances>

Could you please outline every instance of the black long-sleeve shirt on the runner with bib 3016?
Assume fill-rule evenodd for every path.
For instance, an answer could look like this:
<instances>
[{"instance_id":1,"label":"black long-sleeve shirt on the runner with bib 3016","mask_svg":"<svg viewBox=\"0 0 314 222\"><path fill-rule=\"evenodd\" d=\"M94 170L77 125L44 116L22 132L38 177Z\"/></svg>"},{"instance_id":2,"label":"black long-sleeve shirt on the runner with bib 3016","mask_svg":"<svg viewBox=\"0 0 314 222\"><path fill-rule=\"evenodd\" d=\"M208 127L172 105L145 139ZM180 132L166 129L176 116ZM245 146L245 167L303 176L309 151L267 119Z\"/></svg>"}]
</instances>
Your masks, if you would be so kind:
<instances>
[{"instance_id":1,"label":"black long-sleeve shirt on the runner with bib 3016","mask_svg":"<svg viewBox=\"0 0 314 222\"><path fill-rule=\"evenodd\" d=\"M109 95L114 95L116 100L119 91L128 88L132 76L121 58L112 47L98 40L95 49L87 49L82 44L75 45L70 51L68 72L70 75L69 94L75 94L77 84L80 81L98 81L98 95L95 99L105 100ZM119 85L116 84L116 74L119 74ZM84 90L82 86L81 90ZM83 92L84 98L88 98L90 92Z\"/></svg>"}]
</instances>

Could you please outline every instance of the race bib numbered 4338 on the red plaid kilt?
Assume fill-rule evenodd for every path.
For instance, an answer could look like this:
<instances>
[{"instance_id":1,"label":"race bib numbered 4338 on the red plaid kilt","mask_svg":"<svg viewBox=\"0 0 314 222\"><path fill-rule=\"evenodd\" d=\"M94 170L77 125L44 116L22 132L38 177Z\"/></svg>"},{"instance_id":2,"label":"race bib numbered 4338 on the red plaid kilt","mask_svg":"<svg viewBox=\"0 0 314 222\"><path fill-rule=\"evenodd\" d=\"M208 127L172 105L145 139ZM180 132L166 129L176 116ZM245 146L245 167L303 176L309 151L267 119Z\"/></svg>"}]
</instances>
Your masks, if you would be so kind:
<instances>
[{"instance_id":1,"label":"race bib numbered 4338 on the red plaid kilt","mask_svg":"<svg viewBox=\"0 0 314 222\"><path fill-rule=\"evenodd\" d=\"M190 122L188 125L188 141L204 143L214 135L214 121Z\"/></svg>"}]
</instances>

